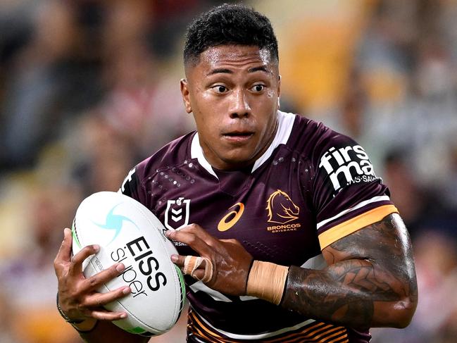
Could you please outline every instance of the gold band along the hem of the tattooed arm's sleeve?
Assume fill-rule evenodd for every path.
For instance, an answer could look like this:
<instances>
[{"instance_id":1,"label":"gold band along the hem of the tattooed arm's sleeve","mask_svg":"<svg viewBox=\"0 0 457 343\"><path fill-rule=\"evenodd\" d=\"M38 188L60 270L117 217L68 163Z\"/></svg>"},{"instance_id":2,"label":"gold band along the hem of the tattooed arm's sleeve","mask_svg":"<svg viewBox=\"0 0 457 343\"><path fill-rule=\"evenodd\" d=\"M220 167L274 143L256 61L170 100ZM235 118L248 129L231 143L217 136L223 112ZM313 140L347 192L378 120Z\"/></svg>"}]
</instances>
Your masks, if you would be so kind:
<instances>
[{"instance_id":1,"label":"gold band along the hem of the tattooed arm's sleeve","mask_svg":"<svg viewBox=\"0 0 457 343\"><path fill-rule=\"evenodd\" d=\"M384 205L373 208L370 211L362 213L359 216L353 217L345 222L338 224L330 229L324 231L319 235L320 249L324 249L338 239L346 237L361 228L370 224L376 223L385 216L391 213L398 213L394 205Z\"/></svg>"}]
</instances>

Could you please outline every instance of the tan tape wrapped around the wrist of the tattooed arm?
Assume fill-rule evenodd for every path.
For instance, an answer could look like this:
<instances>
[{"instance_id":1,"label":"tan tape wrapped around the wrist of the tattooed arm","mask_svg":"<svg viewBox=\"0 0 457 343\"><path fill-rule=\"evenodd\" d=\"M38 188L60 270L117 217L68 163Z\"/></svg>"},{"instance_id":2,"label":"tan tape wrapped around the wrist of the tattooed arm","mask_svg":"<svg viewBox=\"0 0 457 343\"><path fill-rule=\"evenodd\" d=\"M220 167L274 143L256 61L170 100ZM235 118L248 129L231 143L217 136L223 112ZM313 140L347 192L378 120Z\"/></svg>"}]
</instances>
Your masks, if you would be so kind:
<instances>
[{"instance_id":1,"label":"tan tape wrapped around the wrist of the tattooed arm","mask_svg":"<svg viewBox=\"0 0 457 343\"><path fill-rule=\"evenodd\" d=\"M270 262L253 261L246 285L246 294L279 305L288 273L289 267Z\"/></svg>"}]
</instances>

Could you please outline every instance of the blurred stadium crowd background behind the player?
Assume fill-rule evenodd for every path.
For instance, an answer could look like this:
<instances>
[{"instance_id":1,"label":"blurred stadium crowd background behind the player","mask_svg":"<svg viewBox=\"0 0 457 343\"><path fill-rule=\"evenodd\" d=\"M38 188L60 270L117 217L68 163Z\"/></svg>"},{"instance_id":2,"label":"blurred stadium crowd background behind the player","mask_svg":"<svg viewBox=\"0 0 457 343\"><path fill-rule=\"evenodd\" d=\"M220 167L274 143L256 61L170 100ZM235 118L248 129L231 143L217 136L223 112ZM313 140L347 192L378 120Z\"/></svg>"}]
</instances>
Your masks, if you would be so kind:
<instances>
[{"instance_id":1,"label":"blurred stadium crowd background behind the player","mask_svg":"<svg viewBox=\"0 0 457 343\"><path fill-rule=\"evenodd\" d=\"M0 342L81 342L55 310L63 227L83 197L192 130L183 32L218 3L0 1ZM457 342L457 1L244 4L277 32L282 109L356 138L413 237L418 311L373 342Z\"/></svg>"}]
</instances>

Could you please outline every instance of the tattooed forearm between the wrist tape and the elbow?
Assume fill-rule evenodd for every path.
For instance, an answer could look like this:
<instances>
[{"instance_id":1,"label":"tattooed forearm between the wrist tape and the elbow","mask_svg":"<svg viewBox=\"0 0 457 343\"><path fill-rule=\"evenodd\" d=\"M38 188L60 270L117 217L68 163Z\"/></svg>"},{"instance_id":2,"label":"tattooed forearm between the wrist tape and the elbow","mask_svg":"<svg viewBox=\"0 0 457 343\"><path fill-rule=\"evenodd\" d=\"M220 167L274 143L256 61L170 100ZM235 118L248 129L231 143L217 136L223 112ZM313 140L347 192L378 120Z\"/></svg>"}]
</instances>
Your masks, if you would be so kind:
<instances>
[{"instance_id":1,"label":"tattooed forearm between the wrist tape and the elbow","mask_svg":"<svg viewBox=\"0 0 457 343\"><path fill-rule=\"evenodd\" d=\"M404 326L398 317L414 307L406 290L395 291L376 274L364 260L344 261L325 270L292 266L281 306L355 328Z\"/></svg>"}]
</instances>

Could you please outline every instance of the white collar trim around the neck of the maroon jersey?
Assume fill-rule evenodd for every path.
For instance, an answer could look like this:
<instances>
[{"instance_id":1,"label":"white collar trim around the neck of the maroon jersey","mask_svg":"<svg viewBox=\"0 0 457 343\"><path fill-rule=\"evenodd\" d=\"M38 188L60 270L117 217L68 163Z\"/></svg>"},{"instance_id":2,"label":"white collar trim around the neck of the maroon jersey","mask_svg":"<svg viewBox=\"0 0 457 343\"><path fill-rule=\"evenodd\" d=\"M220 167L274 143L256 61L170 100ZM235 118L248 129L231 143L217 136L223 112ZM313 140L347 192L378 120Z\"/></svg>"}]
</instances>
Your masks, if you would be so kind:
<instances>
[{"instance_id":1,"label":"white collar trim around the neck of the maroon jersey","mask_svg":"<svg viewBox=\"0 0 457 343\"><path fill-rule=\"evenodd\" d=\"M287 143L287 140L290 137L290 133L292 132L292 127L294 126L295 117L296 116L293 113L284 113L282 111L277 111L277 120L279 123L277 125L275 138L273 139L273 142L271 142L270 146L268 146L268 149L263 153L263 155L257 159L256 163L254 163L251 173L262 166L262 164L265 163L268 158L270 158L277 146ZM205 168L208 173L218 177L218 175L216 175L213 168L211 167L211 164L209 164L203 154L203 149L201 149L200 146L199 132L196 132L192 138L190 155L191 158L196 158L196 160L199 161L200 166Z\"/></svg>"}]
</instances>

